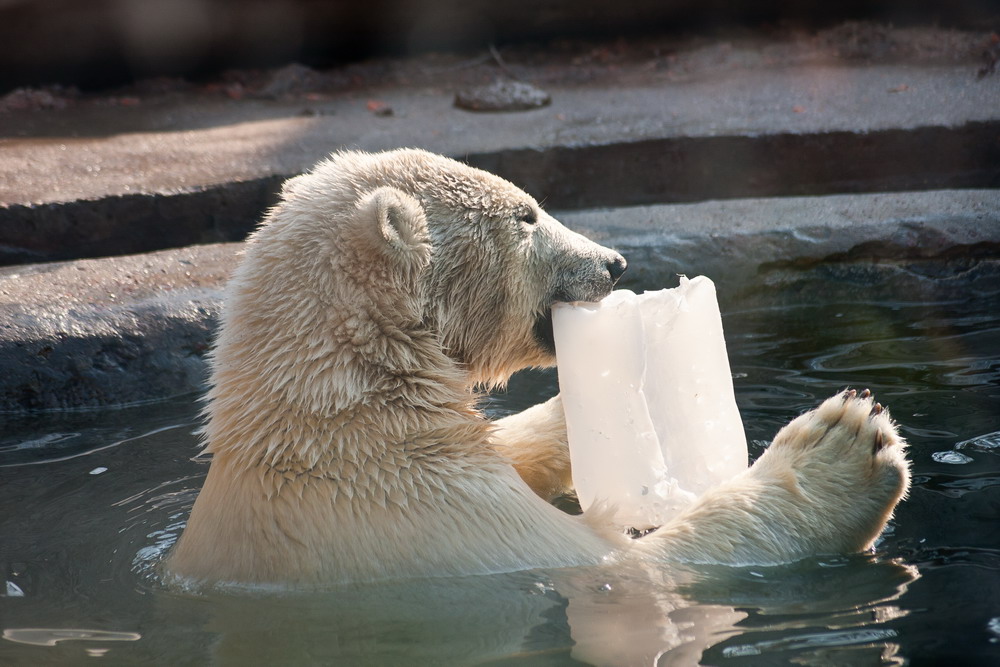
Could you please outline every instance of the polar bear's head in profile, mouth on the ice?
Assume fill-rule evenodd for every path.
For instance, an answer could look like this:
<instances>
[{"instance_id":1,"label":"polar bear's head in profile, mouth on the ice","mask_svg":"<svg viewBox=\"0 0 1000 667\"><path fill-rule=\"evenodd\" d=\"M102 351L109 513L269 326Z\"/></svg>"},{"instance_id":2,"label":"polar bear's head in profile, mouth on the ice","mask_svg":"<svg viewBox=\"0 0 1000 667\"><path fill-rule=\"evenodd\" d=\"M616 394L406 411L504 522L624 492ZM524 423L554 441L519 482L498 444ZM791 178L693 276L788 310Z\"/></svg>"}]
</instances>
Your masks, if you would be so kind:
<instances>
[{"instance_id":1,"label":"polar bear's head in profile, mouth on the ice","mask_svg":"<svg viewBox=\"0 0 1000 667\"><path fill-rule=\"evenodd\" d=\"M509 182L420 150L341 152L291 179L247 255L256 267L243 278L271 286L251 287L244 310L266 317L269 294L283 301L272 312L286 330L265 336L321 325L364 349L359 328L338 327L374 319L390 341L423 327L486 386L551 365L552 304L599 300L625 270ZM326 312L303 321L290 309Z\"/></svg>"}]
</instances>

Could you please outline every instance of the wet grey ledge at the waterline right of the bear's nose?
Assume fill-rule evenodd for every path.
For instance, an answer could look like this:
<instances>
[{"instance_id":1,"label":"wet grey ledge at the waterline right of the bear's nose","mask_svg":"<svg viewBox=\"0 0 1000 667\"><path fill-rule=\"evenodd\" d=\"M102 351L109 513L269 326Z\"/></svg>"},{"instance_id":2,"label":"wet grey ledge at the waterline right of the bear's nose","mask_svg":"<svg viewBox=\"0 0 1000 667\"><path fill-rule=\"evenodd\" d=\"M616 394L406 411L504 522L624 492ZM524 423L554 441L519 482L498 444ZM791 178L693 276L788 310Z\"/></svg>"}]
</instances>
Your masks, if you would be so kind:
<instances>
[{"instance_id":1,"label":"wet grey ledge at the waterline right of the bear's nose","mask_svg":"<svg viewBox=\"0 0 1000 667\"><path fill-rule=\"evenodd\" d=\"M730 298L775 269L1000 256L1000 190L739 199L560 219L629 259L626 286L704 274L725 282Z\"/></svg>"}]
</instances>

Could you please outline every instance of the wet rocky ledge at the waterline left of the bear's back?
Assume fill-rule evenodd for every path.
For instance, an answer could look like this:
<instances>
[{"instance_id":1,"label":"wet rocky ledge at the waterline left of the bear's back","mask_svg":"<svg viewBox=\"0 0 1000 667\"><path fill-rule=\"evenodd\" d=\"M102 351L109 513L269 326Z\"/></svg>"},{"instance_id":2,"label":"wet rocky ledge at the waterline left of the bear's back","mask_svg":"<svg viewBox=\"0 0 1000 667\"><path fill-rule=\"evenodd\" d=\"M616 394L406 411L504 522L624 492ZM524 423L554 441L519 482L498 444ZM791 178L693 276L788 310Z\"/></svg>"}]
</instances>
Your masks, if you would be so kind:
<instances>
[{"instance_id":1,"label":"wet rocky ledge at the waterline left of the bear's back","mask_svg":"<svg viewBox=\"0 0 1000 667\"><path fill-rule=\"evenodd\" d=\"M0 272L0 412L200 389L240 244Z\"/></svg>"}]
</instances>

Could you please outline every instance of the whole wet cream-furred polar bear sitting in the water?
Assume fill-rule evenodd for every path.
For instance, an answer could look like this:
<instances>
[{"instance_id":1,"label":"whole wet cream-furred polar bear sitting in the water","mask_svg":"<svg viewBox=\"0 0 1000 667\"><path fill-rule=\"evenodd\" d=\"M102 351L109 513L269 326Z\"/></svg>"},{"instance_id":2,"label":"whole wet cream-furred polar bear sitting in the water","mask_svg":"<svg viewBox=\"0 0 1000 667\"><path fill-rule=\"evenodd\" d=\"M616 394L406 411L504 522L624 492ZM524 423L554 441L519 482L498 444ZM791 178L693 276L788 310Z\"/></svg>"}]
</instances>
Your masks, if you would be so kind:
<instances>
[{"instance_id":1,"label":"whole wet cream-furred polar bear sitting in the water","mask_svg":"<svg viewBox=\"0 0 1000 667\"><path fill-rule=\"evenodd\" d=\"M337 153L289 180L227 288L211 467L168 572L318 586L869 547L909 473L867 392L795 419L641 539L546 502L571 484L559 398L491 422L477 389L553 364L552 304L598 300L624 269L507 181L424 151Z\"/></svg>"}]
</instances>

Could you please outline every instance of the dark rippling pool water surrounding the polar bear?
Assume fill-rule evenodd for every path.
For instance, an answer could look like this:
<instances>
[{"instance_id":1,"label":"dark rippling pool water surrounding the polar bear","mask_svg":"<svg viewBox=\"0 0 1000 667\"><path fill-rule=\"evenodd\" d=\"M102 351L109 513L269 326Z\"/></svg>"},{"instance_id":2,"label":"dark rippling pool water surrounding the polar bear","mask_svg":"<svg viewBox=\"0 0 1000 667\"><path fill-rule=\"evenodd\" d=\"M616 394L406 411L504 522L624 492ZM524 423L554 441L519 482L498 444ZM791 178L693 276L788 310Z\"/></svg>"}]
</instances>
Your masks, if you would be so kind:
<instances>
[{"instance_id":1,"label":"dark rippling pool water surrounding the polar bear","mask_svg":"<svg viewBox=\"0 0 1000 667\"><path fill-rule=\"evenodd\" d=\"M901 423L914 489L876 553L195 596L156 579L207 470L194 397L2 418L0 664L998 664L1000 262L717 282L752 457L848 385Z\"/></svg>"}]
</instances>

